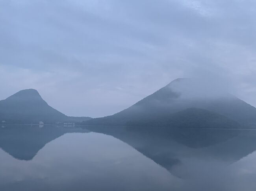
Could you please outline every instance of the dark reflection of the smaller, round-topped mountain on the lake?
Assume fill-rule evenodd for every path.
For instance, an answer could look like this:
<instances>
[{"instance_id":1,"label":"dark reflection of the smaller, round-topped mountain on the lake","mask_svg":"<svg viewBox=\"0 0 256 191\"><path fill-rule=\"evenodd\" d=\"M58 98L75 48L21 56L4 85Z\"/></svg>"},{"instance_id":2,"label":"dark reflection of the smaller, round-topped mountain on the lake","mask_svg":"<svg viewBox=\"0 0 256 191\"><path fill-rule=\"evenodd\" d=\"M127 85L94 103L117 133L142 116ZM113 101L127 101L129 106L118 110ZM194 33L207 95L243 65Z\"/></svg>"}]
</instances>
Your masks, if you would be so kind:
<instances>
[{"instance_id":1,"label":"dark reflection of the smaller, round-topped mountain on the lake","mask_svg":"<svg viewBox=\"0 0 256 191\"><path fill-rule=\"evenodd\" d=\"M0 147L14 158L32 160L48 142L72 132L89 132L87 129L63 126L6 125L0 129Z\"/></svg>"}]
</instances>

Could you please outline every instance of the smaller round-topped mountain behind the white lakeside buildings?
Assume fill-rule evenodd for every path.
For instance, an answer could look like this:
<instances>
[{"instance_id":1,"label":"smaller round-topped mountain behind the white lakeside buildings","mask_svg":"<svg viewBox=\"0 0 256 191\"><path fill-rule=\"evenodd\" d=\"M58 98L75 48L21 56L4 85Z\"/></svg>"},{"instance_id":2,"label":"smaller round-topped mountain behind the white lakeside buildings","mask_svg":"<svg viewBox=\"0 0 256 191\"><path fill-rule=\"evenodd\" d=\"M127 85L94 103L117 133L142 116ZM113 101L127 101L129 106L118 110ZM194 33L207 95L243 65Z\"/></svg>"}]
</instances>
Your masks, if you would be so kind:
<instances>
[{"instance_id":1,"label":"smaller round-topped mountain behind the white lakeside buildings","mask_svg":"<svg viewBox=\"0 0 256 191\"><path fill-rule=\"evenodd\" d=\"M49 106L35 89L24 89L0 101L0 121L6 123L46 124L56 122L81 122L89 117L69 117Z\"/></svg>"}]
</instances>

